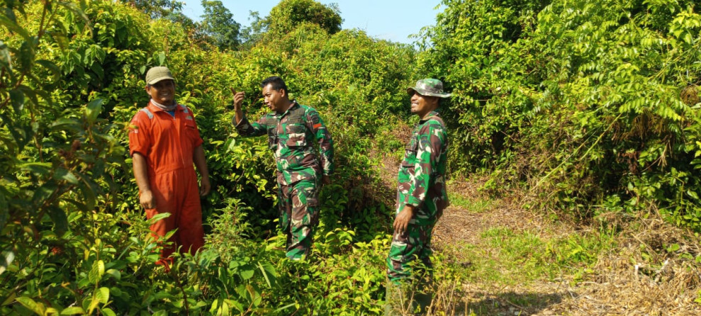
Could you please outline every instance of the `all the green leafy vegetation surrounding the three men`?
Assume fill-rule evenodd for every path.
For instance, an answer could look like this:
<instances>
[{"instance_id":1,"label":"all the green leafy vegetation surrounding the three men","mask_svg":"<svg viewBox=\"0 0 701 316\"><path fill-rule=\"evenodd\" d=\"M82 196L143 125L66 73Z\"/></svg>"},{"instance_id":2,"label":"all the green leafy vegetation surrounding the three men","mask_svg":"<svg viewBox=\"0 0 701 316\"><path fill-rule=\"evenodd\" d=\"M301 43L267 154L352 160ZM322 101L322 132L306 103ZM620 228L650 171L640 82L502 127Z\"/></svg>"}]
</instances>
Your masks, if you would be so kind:
<instances>
[{"instance_id":1,"label":"all the green leafy vegetation surrounding the three men","mask_svg":"<svg viewBox=\"0 0 701 316\"><path fill-rule=\"evenodd\" d=\"M206 16L213 38L226 34L218 23L238 31L221 3L208 4L218 12ZM405 87L420 77L443 79L455 96L442 105L455 176L490 174L493 193L527 188L532 205L555 216L658 209L700 229L701 16L693 1L442 4L418 51L341 30L337 7L310 0L281 1L246 45L232 50L238 35L230 34L219 51L201 45L198 26L154 20L164 13L135 5L7 1L0 313L380 312L393 193L381 190L377 167L381 157L399 159L416 119ZM145 70L155 65L178 78L213 184L202 201L206 247L170 272L153 264L159 246L126 151L127 124L147 101ZM259 82L270 75L320 111L336 144L315 253L303 262L283 259L265 140L230 125L228 88L246 91L245 111L257 118L267 111ZM603 249L576 237L546 244L491 233L508 237L514 254L545 249L533 266L586 266Z\"/></svg>"}]
</instances>

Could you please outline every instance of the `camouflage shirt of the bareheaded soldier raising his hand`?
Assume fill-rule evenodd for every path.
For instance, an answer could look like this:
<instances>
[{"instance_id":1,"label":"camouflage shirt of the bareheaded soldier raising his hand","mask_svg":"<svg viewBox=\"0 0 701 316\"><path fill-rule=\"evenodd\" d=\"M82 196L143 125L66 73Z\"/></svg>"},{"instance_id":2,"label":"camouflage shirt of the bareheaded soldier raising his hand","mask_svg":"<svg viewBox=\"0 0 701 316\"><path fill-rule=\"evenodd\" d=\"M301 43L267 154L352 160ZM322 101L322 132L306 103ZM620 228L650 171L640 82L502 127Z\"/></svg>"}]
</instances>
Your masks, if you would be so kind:
<instances>
[{"instance_id":1,"label":"camouflage shirt of the bareheaded soldier raising his hand","mask_svg":"<svg viewBox=\"0 0 701 316\"><path fill-rule=\"evenodd\" d=\"M275 155L278 183L293 184L303 179L320 179L332 174L333 140L319 113L294 102L285 113L267 113L254 123L243 117L234 125L240 135L268 135L268 147ZM319 143L319 154L314 142ZM319 158L318 158L319 157Z\"/></svg>"}]
</instances>

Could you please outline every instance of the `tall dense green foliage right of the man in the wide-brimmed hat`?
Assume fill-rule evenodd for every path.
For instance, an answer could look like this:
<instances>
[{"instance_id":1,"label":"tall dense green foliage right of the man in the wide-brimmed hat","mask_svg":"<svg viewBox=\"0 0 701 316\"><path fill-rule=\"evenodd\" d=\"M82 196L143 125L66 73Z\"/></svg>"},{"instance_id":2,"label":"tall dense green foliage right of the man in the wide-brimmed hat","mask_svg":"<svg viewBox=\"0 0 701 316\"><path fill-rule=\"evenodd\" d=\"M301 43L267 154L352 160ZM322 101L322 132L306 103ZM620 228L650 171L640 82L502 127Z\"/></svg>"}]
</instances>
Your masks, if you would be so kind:
<instances>
[{"instance_id":1,"label":"tall dense green foliage right of the man in the wide-brimmed hat","mask_svg":"<svg viewBox=\"0 0 701 316\"><path fill-rule=\"evenodd\" d=\"M533 205L574 218L617 198L701 227L698 100L680 94L697 96L693 1L443 4L420 60L453 85L454 150L467 158L454 168L490 172L488 188L525 186Z\"/></svg>"}]
</instances>

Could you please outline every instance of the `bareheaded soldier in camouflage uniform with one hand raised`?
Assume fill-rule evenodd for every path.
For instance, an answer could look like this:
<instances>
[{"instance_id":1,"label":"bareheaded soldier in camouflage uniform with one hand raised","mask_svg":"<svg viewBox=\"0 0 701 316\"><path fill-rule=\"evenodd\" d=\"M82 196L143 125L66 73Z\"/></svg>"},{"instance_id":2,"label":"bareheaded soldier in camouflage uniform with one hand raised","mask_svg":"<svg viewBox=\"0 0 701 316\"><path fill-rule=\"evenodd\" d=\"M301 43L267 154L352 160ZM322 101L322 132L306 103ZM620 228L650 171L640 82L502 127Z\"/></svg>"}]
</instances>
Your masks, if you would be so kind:
<instances>
[{"instance_id":1,"label":"bareheaded soldier in camouflage uniform with one hand raised","mask_svg":"<svg viewBox=\"0 0 701 316\"><path fill-rule=\"evenodd\" d=\"M333 165L333 141L319 113L290 100L285 81L262 81L265 103L272 112L249 123L241 110L245 94L234 96L232 123L240 135L268 135L277 167L280 225L287 233L287 257L298 260L309 254L319 218L320 182L328 184ZM318 154L314 143L319 143Z\"/></svg>"}]
</instances>

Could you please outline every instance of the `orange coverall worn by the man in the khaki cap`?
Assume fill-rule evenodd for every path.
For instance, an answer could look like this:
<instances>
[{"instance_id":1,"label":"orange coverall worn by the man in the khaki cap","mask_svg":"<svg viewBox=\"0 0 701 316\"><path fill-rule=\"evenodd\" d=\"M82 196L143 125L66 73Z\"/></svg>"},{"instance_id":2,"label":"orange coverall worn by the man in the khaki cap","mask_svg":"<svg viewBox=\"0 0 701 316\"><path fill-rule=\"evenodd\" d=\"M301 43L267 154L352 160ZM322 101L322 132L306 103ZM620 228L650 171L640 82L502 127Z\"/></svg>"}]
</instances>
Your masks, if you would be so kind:
<instances>
[{"instance_id":1,"label":"orange coverall worn by the man in the khaki cap","mask_svg":"<svg viewBox=\"0 0 701 316\"><path fill-rule=\"evenodd\" d=\"M161 237L178 229L169 240L174 246L164 248L161 257L167 258L176 247L181 252L194 253L204 244L202 208L193 166L194 149L202 145L202 138L192 112L178 105L175 117L149 103L142 108L131 124L129 152L146 157L148 179L156 208L147 209L146 217L171 213L169 218L151 225L153 235Z\"/></svg>"}]
</instances>

